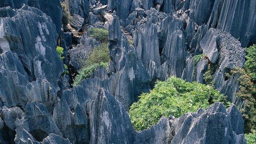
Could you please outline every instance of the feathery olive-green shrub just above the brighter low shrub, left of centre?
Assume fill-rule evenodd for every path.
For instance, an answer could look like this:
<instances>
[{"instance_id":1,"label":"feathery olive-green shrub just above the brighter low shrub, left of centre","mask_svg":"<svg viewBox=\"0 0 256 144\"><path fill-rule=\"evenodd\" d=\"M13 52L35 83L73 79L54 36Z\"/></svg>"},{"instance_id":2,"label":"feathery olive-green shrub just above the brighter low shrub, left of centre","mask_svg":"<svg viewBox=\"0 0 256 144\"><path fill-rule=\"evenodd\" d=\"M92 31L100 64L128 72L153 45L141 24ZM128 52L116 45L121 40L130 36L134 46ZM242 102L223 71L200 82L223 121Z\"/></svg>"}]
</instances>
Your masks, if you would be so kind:
<instances>
[{"instance_id":1,"label":"feathery olive-green shrub just above the brighter low shrub, left of centre","mask_svg":"<svg viewBox=\"0 0 256 144\"><path fill-rule=\"evenodd\" d=\"M108 62L109 60L108 43L102 43L88 53L87 59L83 65L84 67L88 67L93 64L100 64L100 62Z\"/></svg>"}]
</instances>

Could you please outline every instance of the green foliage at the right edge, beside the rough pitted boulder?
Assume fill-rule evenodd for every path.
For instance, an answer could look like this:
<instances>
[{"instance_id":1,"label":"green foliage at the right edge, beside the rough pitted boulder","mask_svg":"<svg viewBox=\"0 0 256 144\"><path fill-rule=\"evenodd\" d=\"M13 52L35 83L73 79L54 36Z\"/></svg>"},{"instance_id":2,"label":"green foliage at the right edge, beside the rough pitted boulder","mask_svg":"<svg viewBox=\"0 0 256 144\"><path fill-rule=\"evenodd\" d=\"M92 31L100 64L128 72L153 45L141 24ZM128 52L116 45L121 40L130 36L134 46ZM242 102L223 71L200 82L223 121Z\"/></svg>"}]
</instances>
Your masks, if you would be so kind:
<instances>
[{"instance_id":1,"label":"green foliage at the right edge, beside the rough pitted boulder","mask_svg":"<svg viewBox=\"0 0 256 144\"><path fill-rule=\"evenodd\" d=\"M256 45L246 48L244 69L254 84L256 83Z\"/></svg>"}]
</instances>

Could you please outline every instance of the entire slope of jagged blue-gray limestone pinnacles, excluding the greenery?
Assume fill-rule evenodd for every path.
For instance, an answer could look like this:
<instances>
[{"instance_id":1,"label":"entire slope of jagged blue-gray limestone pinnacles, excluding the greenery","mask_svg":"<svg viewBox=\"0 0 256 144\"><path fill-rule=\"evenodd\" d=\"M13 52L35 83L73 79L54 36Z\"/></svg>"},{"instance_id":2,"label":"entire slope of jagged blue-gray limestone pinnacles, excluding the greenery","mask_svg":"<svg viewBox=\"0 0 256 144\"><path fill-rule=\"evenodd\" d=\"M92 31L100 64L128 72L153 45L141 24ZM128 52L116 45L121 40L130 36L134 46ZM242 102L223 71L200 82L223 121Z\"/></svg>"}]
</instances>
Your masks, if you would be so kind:
<instances>
[{"instance_id":1,"label":"entire slope of jagged blue-gray limestone pinnacles, excluding the greenery","mask_svg":"<svg viewBox=\"0 0 256 144\"><path fill-rule=\"evenodd\" d=\"M236 108L244 105L236 96L239 74L226 73L242 68L244 48L256 43L255 0L108 0L103 3L114 12L107 23L105 9L89 12L89 3L69 1L71 15L81 19L73 23L108 28L111 60L108 70L100 67L70 88L57 44L64 64L77 71L98 42L86 34L71 49L74 38L61 29L59 0L0 2L1 144L246 144ZM204 57L195 63L199 54ZM214 103L134 130L129 107L156 80L206 83L208 70L235 105Z\"/></svg>"}]
</instances>

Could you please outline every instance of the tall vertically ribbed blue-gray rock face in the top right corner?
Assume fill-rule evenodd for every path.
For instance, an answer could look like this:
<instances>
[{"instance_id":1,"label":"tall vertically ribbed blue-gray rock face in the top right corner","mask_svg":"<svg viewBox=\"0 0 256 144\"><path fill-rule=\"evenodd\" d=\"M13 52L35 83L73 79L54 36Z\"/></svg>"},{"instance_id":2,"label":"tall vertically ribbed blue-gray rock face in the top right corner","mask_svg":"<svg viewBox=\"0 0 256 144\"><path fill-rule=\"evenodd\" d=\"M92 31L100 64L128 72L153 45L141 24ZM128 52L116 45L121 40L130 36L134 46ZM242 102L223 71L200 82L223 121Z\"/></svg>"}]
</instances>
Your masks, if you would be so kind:
<instances>
[{"instance_id":1,"label":"tall vertically ribbed blue-gray rock face in the top right corner","mask_svg":"<svg viewBox=\"0 0 256 144\"><path fill-rule=\"evenodd\" d=\"M255 44L255 5L255 0L215 0L207 25L229 32L243 48Z\"/></svg>"}]
</instances>

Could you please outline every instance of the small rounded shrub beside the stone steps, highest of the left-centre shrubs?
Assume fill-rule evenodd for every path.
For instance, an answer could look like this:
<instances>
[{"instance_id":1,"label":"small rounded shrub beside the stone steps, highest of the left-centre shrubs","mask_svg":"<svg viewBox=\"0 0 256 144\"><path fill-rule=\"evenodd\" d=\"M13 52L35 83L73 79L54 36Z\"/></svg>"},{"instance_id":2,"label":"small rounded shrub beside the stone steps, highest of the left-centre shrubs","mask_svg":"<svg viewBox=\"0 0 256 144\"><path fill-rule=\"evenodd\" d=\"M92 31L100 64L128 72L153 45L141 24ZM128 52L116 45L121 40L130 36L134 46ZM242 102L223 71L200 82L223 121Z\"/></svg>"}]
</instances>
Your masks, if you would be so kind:
<instances>
[{"instance_id":1,"label":"small rounded shrub beside the stone steps, highest of the left-centre shrubs","mask_svg":"<svg viewBox=\"0 0 256 144\"><path fill-rule=\"evenodd\" d=\"M103 28L90 28L90 37L95 38L101 43L108 42L108 30Z\"/></svg>"}]
</instances>

